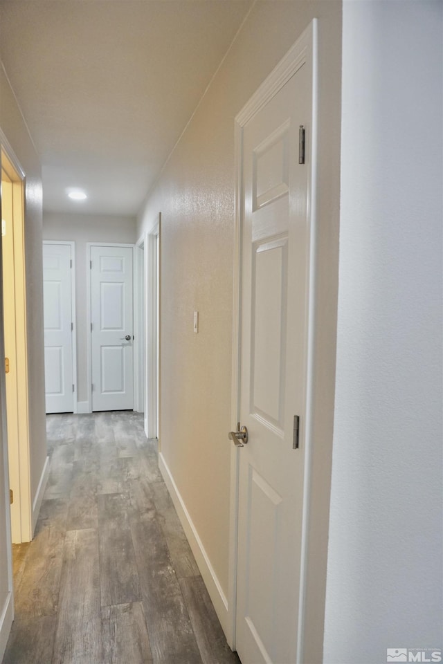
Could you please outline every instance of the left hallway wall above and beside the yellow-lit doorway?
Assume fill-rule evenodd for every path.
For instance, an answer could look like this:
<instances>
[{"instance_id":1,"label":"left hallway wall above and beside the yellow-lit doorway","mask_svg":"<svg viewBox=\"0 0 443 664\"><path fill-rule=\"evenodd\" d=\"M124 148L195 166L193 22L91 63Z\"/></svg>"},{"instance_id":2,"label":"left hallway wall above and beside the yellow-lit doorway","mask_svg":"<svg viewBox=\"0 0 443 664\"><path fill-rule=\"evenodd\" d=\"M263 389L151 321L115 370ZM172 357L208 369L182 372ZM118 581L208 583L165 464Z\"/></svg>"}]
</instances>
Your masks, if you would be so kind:
<instances>
[{"instance_id":1,"label":"left hallway wall above and beside the yellow-lit doorway","mask_svg":"<svg viewBox=\"0 0 443 664\"><path fill-rule=\"evenodd\" d=\"M28 328L28 389L30 436L30 489L34 501L46 461L44 414L42 179L39 158L0 68L0 127L26 174L25 263Z\"/></svg>"}]
</instances>

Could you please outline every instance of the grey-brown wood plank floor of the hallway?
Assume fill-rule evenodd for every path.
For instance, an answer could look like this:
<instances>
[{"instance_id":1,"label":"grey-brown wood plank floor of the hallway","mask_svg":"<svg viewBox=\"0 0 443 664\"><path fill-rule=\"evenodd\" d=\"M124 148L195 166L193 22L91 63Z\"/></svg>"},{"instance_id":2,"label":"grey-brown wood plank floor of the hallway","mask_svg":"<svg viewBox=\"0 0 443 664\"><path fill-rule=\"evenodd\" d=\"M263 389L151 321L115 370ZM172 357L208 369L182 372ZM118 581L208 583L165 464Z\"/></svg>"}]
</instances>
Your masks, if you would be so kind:
<instances>
[{"instance_id":1,"label":"grey-brown wood plank floor of the hallway","mask_svg":"<svg viewBox=\"0 0 443 664\"><path fill-rule=\"evenodd\" d=\"M239 664L133 412L49 415L3 664Z\"/></svg>"}]
</instances>

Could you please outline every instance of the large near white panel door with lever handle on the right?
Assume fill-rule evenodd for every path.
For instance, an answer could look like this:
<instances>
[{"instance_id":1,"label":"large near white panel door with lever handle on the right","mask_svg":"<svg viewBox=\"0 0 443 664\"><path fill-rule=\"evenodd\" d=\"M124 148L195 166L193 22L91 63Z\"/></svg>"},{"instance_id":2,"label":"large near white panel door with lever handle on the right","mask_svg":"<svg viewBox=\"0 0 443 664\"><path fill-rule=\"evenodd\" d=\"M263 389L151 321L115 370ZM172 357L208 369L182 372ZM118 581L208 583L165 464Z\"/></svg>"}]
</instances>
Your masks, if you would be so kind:
<instances>
[{"instance_id":1,"label":"large near white panel door with lever handle on the right","mask_svg":"<svg viewBox=\"0 0 443 664\"><path fill-rule=\"evenodd\" d=\"M244 126L237 652L296 662L307 382L311 67ZM300 439L294 436L300 418Z\"/></svg>"}]
</instances>

